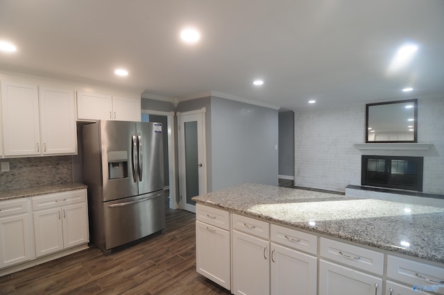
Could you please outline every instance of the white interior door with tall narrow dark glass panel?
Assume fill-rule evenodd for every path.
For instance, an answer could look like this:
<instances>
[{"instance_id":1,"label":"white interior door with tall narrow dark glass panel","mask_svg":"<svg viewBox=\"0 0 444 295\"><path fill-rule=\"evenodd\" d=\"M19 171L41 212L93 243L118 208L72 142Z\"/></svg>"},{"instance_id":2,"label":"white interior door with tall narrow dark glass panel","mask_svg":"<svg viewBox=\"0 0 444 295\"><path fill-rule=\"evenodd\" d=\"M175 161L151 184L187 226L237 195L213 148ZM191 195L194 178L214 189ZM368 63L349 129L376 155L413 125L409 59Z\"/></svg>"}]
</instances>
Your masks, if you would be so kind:
<instances>
[{"instance_id":1,"label":"white interior door with tall narrow dark glass panel","mask_svg":"<svg viewBox=\"0 0 444 295\"><path fill-rule=\"evenodd\" d=\"M182 209L196 212L193 196L207 193L205 112L178 114L179 185Z\"/></svg>"}]
</instances>

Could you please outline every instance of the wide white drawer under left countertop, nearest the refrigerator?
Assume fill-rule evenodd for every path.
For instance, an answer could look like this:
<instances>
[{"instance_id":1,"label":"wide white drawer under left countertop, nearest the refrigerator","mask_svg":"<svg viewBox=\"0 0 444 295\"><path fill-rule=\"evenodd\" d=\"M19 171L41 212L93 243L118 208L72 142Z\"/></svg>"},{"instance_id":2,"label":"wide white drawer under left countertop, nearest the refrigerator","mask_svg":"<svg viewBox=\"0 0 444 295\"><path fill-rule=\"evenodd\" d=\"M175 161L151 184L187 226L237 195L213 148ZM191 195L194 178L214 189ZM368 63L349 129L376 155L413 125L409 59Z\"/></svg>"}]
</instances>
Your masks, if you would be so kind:
<instances>
[{"instance_id":1,"label":"wide white drawer under left countertop, nearest the refrigerator","mask_svg":"<svg viewBox=\"0 0 444 295\"><path fill-rule=\"evenodd\" d=\"M58 192L33 197L33 210L38 211L83 202L86 202L86 189Z\"/></svg>"}]
</instances>

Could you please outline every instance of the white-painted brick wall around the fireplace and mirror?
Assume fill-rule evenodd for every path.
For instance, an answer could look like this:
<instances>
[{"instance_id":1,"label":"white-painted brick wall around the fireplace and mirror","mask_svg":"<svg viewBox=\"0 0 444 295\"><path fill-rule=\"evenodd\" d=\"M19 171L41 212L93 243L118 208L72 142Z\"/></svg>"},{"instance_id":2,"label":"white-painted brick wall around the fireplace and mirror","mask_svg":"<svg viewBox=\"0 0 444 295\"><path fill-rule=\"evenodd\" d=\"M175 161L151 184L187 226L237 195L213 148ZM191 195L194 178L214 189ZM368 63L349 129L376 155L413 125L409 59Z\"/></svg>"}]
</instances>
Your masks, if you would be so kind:
<instances>
[{"instance_id":1,"label":"white-painted brick wall around the fireplace and mirror","mask_svg":"<svg viewBox=\"0 0 444 295\"><path fill-rule=\"evenodd\" d=\"M295 113L295 185L345 191L361 185L365 104ZM418 142L429 151L372 151L372 155L424 156L423 191L444 194L444 98L418 101Z\"/></svg>"}]
</instances>

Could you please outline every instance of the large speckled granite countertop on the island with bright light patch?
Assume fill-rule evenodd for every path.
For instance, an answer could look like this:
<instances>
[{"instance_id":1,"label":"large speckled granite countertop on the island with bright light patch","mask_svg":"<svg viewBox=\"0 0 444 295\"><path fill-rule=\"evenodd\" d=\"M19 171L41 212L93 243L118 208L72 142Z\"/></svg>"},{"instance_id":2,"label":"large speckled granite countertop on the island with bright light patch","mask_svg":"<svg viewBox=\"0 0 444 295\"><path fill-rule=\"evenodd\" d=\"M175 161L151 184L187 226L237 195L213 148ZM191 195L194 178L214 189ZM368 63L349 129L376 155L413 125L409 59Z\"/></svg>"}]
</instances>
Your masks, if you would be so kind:
<instances>
[{"instance_id":1,"label":"large speckled granite countertop on the island with bright light patch","mask_svg":"<svg viewBox=\"0 0 444 295\"><path fill-rule=\"evenodd\" d=\"M193 200L444 263L444 208L257 184L238 185Z\"/></svg>"}]
</instances>

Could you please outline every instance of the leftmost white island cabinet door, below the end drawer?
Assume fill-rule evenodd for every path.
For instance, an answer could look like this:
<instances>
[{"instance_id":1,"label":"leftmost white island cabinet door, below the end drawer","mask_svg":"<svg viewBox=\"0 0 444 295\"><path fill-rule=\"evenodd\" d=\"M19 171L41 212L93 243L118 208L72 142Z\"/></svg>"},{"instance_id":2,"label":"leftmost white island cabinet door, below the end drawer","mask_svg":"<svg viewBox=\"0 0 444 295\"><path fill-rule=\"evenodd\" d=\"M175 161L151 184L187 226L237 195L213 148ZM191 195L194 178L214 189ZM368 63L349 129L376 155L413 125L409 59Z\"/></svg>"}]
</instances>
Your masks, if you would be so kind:
<instances>
[{"instance_id":1,"label":"leftmost white island cabinet door, below the end drawer","mask_svg":"<svg viewBox=\"0 0 444 295\"><path fill-rule=\"evenodd\" d=\"M196 221L196 271L231 288L230 232Z\"/></svg>"}]
</instances>

